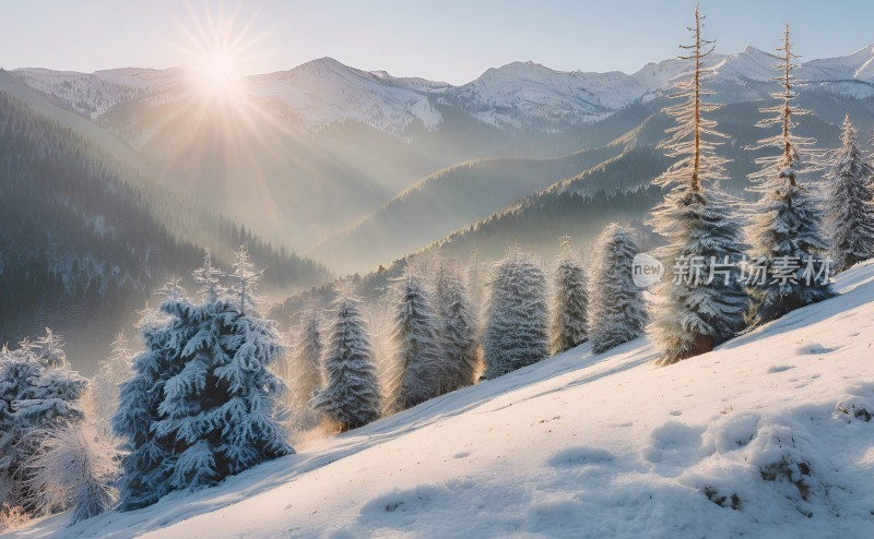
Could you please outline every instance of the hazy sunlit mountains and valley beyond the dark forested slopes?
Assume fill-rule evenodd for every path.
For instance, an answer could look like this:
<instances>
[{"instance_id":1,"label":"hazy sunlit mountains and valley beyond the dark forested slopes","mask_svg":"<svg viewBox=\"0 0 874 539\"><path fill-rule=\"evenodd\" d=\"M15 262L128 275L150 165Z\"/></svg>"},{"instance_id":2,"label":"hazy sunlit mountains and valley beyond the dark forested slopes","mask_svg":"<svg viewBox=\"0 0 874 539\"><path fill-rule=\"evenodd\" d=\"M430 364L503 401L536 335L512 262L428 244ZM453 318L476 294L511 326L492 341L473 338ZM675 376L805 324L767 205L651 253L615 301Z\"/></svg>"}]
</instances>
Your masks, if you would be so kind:
<instances>
[{"instance_id":1,"label":"hazy sunlit mountains and valley beyond the dark forested slopes","mask_svg":"<svg viewBox=\"0 0 874 539\"><path fill-rule=\"evenodd\" d=\"M818 96L819 109L864 103L874 96L873 59L869 46L807 61L795 71L807 82L801 92ZM768 99L778 60L754 47L709 56L712 98ZM633 74L512 62L454 86L322 58L246 77L233 104L210 104L196 89L197 74L179 68L11 74L88 119L206 207L334 271L355 272L595 165L516 167L519 160L572 163L587 151L615 157L624 147L616 141L658 113L686 69L677 59ZM421 221L399 229L398 216L410 215ZM404 239L394 241L393 231ZM369 249L370 242L387 247Z\"/></svg>"}]
</instances>

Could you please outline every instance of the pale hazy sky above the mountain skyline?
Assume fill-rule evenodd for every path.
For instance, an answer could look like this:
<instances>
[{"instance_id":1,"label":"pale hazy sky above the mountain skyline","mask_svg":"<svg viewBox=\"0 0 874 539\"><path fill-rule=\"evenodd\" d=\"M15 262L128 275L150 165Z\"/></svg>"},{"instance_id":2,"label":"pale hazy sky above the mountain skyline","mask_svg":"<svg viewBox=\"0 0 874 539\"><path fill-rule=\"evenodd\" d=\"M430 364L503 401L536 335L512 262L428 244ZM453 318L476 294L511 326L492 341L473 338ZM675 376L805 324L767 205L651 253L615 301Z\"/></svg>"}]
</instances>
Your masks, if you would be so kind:
<instances>
[{"instance_id":1,"label":"pale hazy sky above the mountain skyline","mask_svg":"<svg viewBox=\"0 0 874 539\"><path fill-rule=\"evenodd\" d=\"M324 56L365 70L456 84L491 67L534 60L559 70L634 72L688 40L688 0L182 0L2 1L0 64L95 71L191 61L191 33L206 14L238 12L246 73L291 69ZM778 45L794 29L806 59L874 43L872 0L702 0L719 52Z\"/></svg>"}]
</instances>

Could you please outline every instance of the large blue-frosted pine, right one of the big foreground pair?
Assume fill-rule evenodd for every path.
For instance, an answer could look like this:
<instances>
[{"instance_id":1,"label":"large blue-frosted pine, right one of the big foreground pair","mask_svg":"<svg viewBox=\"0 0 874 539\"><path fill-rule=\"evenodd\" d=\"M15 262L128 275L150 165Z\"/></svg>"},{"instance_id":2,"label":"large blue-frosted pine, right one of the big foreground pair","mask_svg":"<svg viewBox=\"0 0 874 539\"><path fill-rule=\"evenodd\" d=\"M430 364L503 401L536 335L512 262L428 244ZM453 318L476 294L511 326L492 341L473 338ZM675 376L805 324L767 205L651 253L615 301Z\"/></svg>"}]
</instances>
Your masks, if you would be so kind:
<instances>
[{"instance_id":1,"label":"large blue-frosted pine, right one of the big foreground pair","mask_svg":"<svg viewBox=\"0 0 874 539\"><path fill-rule=\"evenodd\" d=\"M182 368L165 382L153 424L156 435L175 442L172 489L211 486L294 453L276 418L284 385L269 369L283 348L275 324L258 318L259 274L251 267L241 249L229 300L211 301L204 286L201 303L165 303L170 331L184 344L175 358Z\"/></svg>"}]
</instances>

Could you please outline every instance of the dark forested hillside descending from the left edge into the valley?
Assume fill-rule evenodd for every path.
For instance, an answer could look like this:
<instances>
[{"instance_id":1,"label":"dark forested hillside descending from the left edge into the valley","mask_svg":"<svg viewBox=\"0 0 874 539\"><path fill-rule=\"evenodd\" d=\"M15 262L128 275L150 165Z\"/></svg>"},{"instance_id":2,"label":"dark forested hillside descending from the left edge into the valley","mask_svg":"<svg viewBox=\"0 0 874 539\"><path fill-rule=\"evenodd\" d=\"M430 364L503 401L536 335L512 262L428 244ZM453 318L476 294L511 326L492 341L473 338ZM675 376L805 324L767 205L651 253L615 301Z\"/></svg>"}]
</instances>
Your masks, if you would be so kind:
<instances>
[{"instance_id":1,"label":"dark forested hillside descending from the left edge into the valley","mask_svg":"<svg viewBox=\"0 0 874 539\"><path fill-rule=\"evenodd\" d=\"M104 355L133 311L169 276L188 275L204 247L229 262L246 244L273 290L327 278L245 227L141 187L138 173L0 93L0 343L50 326L87 372L95 360L85 356Z\"/></svg>"}]
</instances>

